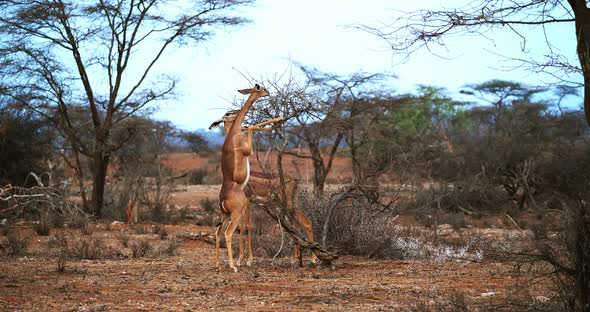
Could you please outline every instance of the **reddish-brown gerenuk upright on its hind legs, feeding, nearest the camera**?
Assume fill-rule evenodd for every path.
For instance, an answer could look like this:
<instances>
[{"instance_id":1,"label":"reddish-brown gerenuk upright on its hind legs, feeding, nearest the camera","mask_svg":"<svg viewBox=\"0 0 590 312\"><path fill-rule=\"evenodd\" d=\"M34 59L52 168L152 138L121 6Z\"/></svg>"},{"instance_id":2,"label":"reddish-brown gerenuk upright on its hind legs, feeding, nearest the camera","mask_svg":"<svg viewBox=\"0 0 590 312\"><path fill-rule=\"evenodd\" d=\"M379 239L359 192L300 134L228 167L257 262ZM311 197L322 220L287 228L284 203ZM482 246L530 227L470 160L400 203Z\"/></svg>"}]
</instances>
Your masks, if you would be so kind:
<instances>
[{"instance_id":1,"label":"reddish-brown gerenuk upright on its hind legs, feeding, nearest the camera","mask_svg":"<svg viewBox=\"0 0 590 312\"><path fill-rule=\"evenodd\" d=\"M219 243L221 232L224 231L225 244L227 247L227 256L229 266L235 272L238 268L234 265L233 251L231 246L232 235L240 225L240 221L247 211L249 205L248 198L244 193L244 187L248 183L250 176L250 164L248 156L252 154L252 131L248 130L246 137L242 133L242 123L246 118L246 113L252 107L252 104L260 97L268 96L268 90L258 84L252 89L239 90L242 94L250 94L244 106L238 112L236 119L225 137L221 149L221 173L223 175L223 184L219 192L219 203L221 208L221 225L215 231L215 256L217 270L221 270L219 264ZM252 250L248 250L249 257L246 264L252 265Z\"/></svg>"}]
</instances>

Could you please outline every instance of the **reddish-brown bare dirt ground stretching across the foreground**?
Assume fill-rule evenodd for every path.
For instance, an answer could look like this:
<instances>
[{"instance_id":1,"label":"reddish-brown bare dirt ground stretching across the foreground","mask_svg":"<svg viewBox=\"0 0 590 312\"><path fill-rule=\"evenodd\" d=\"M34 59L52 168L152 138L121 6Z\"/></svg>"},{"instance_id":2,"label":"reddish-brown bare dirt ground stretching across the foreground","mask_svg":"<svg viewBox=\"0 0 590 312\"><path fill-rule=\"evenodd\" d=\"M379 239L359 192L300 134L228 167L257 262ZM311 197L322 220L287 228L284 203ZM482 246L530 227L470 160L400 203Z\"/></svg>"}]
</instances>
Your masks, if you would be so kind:
<instances>
[{"instance_id":1,"label":"reddish-brown bare dirt ground stretching across the foreground","mask_svg":"<svg viewBox=\"0 0 590 312\"><path fill-rule=\"evenodd\" d=\"M114 255L109 259L68 260L65 271L58 272L57 258L47 252L51 236L33 236L27 256L3 259L1 310L424 311L459 298L455 304L473 311L508 300L525 282L511 264L361 257L343 257L329 267L306 262L303 268L290 259L256 258L252 267L234 273L225 249L218 272L213 245L190 239L212 228L167 225L168 239L184 237L177 255L133 258L118 235L154 245L161 242L158 235L135 234L127 225L95 227L92 237L106 242ZM70 241L84 239L79 230L65 231ZM535 294L549 297L541 286Z\"/></svg>"}]
</instances>

